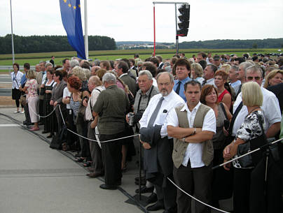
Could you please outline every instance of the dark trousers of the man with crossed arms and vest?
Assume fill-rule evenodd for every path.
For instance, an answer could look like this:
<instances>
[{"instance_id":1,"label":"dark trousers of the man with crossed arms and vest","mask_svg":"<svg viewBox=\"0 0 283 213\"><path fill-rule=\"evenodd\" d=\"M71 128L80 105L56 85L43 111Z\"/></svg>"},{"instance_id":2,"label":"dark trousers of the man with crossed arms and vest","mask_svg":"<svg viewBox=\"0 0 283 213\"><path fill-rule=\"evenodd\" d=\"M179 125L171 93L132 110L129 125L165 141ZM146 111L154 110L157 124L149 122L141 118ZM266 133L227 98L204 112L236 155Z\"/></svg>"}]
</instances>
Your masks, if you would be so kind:
<instances>
[{"instance_id":1,"label":"dark trousers of the man with crossed arms and vest","mask_svg":"<svg viewBox=\"0 0 283 213\"><path fill-rule=\"evenodd\" d=\"M174 167L173 175L177 185L195 198L209 204L212 199L212 163L209 166L191 168L187 166ZM178 213L191 213L191 197L177 189ZM211 212L210 208L195 201L195 212Z\"/></svg>"}]
</instances>

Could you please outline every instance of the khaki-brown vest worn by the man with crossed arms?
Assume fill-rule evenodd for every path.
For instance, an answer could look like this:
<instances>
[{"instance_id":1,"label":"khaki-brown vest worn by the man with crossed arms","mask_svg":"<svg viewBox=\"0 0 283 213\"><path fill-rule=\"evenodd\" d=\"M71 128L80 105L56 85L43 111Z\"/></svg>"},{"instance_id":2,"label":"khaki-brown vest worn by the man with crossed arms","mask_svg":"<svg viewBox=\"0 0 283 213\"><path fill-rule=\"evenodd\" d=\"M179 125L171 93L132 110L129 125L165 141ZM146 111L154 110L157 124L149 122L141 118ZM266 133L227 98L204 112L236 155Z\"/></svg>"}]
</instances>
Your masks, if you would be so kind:
<instances>
[{"instance_id":1,"label":"khaki-brown vest worn by the man with crossed arms","mask_svg":"<svg viewBox=\"0 0 283 213\"><path fill-rule=\"evenodd\" d=\"M180 111L181 108L183 107L184 105L175 108L179 120L179 126L182 128L189 128L186 110L183 112ZM209 108L207 105L204 105L202 103L200 104L200 107L198 108L198 111L195 115L193 127L202 128L205 115L207 115L207 112L210 109L211 108ZM203 163L205 163L205 166L209 166L209 164L212 162L213 159L213 143L212 140L207 140L202 143L203 143L202 161ZM181 166L181 163L184 160L187 147L188 147L188 142L183 142L182 140L174 138L174 149L173 149L172 158L173 158L174 166L176 168L179 168L179 166Z\"/></svg>"}]
</instances>

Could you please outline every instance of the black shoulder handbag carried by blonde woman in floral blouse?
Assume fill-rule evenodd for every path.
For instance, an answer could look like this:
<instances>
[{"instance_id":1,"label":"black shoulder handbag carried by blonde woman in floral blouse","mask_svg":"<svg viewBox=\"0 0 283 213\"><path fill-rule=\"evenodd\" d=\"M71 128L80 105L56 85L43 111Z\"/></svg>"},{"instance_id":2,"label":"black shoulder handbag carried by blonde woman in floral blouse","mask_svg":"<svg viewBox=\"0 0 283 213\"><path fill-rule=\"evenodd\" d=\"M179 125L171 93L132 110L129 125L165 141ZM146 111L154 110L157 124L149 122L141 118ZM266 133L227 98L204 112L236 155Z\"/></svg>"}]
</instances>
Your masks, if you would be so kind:
<instances>
[{"instance_id":1,"label":"black shoulder handbag carried by blonde woman in floral blouse","mask_svg":"<svg viewBox=\"0 0 283 213\"><path fill-rule=\"evenodd\" d=\"M258 115L256 114L256 117ZM259 147L266 145L268 143L266 135L264 133L263 124L261 122L261 119L258 117L258 123L261 126L261 132L262 134L258 136L257 138L254 138L252 140L248 140L244 144L241 144L237 147L237 156L242 156L243 154L247 154L251 152L251 150L258 149ZM258 150L257 152L254 152L252 154L247 154L246 156L243 156L240 159L237 159L237 161L240 163L240 166L242 168L247 167L254 167L257 165L259 161L261 161L261 158L263 156L263 153L261 150Z\"/></svg>"}]
</instances>

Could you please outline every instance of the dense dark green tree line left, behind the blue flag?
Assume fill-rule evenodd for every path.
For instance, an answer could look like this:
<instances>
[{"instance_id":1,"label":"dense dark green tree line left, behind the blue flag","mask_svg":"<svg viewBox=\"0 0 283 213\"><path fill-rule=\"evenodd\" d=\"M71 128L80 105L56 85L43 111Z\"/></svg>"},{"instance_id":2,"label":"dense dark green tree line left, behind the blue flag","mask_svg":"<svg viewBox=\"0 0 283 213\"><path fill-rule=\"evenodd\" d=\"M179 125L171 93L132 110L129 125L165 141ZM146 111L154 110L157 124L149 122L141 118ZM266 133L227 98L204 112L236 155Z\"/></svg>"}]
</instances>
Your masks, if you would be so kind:
<instances>
[{"instance_id":1,"label":"dense dark green tree line left, behind the blue flag","mask_svg":"<svg viewBox=\"0 0 283 213\"><path fill-rule=\"evenodd\" d=\"M67 36L13 35L15 53L74 51ZM116 42L107 36L88 36L89 50L116 50ZM11 34L0 36L0 54L11 54Z\"/></svg>"}]
</instances>

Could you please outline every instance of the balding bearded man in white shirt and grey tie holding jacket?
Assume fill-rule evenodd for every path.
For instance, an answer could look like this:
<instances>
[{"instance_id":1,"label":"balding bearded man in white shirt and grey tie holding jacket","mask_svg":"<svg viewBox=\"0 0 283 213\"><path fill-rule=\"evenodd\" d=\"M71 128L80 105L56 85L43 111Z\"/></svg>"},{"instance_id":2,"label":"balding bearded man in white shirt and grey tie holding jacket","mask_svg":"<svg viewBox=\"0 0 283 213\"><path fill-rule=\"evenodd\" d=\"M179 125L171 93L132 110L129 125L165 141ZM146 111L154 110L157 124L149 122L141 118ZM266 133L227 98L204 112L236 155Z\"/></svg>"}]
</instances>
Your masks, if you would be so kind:
<instances>
[{"instance_id":1,"label":"balding bearded man in white shirt and grey tie holding jacket","mask_svg":"<svg viewBox=\"0 0 283 213\"><path fill-rule=\"evenodd\" d=\"M151 98L139 120L146 179L154 184L158 196L157 203L147 207L147 210L165 208L165 212L176 212L176 187L166 178L173 177L173 139L167 137L166 117L172 108L185 102L173 90L174 80L170 73L159 73L156 79L160 94Z\"/></svg>"}]
</instances>

